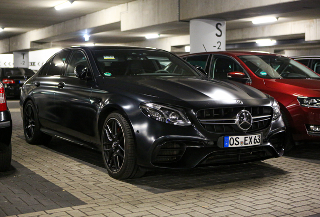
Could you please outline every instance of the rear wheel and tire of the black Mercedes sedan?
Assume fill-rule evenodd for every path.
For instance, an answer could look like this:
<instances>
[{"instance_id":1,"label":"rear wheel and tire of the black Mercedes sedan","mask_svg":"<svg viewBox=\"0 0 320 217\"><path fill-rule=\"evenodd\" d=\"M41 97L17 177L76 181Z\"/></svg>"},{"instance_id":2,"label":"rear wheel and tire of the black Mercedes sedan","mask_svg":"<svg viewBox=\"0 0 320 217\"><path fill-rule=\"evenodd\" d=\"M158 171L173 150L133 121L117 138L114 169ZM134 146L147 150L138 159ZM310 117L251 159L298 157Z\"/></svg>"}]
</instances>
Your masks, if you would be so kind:
<instances>
[{"instance_id":1,"label":"rear wheel and tire of the black Mercedes sedan","mask_svg":"<svg viewBox=\"0 0 320 217\"><path fill-rule=\"evenodd\" d=\"M32 101L28 101L23 110L23 131L27 143L32 145L45 145L52 138L40 131L38 114Z\"/></svg>"}]
</instances>

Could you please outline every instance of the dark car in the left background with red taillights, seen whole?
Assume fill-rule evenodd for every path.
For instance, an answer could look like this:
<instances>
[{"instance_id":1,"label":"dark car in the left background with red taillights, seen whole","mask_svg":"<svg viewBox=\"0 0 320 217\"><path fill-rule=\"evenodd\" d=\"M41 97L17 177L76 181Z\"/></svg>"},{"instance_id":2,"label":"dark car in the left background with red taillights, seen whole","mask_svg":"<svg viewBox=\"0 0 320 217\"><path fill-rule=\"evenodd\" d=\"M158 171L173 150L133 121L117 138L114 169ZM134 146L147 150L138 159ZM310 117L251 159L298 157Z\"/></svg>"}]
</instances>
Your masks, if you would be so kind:
<instances>
[{"instance_id":1,"label":"dark car in the left background with red taillights, seen whole","mask_svg":"<svg viewBox=\"0 0 320 217\"><path fill-rule=\"evenodd\" d=\"M34 74L28 68L0 68L0 82L5 87L6 96L19 97L22 85Z\"/></svg>"}]
</instances>

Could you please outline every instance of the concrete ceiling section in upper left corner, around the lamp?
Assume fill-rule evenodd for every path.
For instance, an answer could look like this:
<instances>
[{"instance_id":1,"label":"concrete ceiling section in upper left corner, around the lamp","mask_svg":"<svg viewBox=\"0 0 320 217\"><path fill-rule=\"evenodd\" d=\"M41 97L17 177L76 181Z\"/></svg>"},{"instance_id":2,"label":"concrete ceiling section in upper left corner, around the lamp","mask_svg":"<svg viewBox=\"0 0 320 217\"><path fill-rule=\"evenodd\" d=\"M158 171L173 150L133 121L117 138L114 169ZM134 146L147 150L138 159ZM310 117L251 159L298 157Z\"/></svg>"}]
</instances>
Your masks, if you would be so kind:
<instances>
[{"instance_id":1,"label":"concrete ceiling section in upper left corner, around the lamp","mask_svg":"<svg viewBox=\"0 0 320 217\"><path fill-rule=\"evenodd\" d=\"M82 17L134 0L76 0L69 9L54 6L66 0L0 0L0 27L6 28L0 40Z\"/></svg>"}]
</instances>

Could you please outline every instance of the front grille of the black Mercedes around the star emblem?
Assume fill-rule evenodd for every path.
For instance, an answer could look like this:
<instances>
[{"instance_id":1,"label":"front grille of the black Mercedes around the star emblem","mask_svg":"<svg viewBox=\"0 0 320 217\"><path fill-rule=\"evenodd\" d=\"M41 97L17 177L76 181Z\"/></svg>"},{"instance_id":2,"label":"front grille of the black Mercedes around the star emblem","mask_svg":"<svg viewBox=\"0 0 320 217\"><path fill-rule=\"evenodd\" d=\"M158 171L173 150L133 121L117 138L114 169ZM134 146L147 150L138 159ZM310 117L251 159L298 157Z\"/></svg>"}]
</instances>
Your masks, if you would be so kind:
<instances>
[{"instance_id":1,"label":"front grille of the black Mercedes around the star emblem","mask_svg":"<svg viewBox=\"0 0 320 217\"><path fill-rule=\"evenodd\" d=\"M250 112L253 118L252 126L247 130L249 133L265 129L271 124L273 110L270 106L210 108L200 110L197 118L209 132L241 134L244 131L236 125L236 115L242 110Z\"/></svg>"}]
</instances>

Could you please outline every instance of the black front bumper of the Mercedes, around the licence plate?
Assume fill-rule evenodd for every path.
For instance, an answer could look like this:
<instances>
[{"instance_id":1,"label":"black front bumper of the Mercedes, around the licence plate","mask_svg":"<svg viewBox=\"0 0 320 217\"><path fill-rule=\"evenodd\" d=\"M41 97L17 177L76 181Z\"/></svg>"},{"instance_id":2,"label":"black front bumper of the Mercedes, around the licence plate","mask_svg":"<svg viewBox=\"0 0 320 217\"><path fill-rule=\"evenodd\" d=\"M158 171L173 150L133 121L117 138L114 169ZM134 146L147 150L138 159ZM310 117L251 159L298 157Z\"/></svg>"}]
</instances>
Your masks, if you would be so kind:
<instances>
[{"instance_id":1,"label":"black front bumper of the Mercedes, around the licence plate","mask_svg":"<svg viewBox=\"0 0 320 217\"><path fill-rule=\"evenodd\" d=\"M284 153L282 118L272 121L266 129L251 133L262 134L261 145L223 148L223 136L227 135L209 133L200 126L180 127L143 116L137 118L144 124L133 124L137 163L142 167L181 169L236 164L280 157Z\"/></svg>"}]
</instances>

